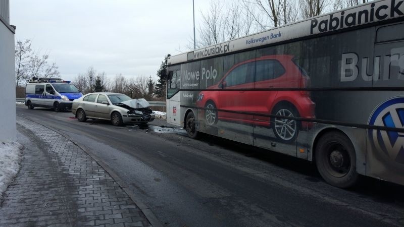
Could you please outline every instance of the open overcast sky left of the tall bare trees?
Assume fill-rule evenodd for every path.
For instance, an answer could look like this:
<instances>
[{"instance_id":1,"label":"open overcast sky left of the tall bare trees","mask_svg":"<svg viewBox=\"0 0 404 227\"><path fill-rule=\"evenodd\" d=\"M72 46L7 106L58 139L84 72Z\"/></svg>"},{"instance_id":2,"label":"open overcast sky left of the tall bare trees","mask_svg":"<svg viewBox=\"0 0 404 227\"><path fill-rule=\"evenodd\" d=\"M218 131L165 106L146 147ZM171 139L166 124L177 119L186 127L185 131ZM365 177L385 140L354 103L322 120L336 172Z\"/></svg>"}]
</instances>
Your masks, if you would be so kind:
<instances>
[{"instance_id":1,"label":"open overcast sky left of the tall bare trees","mask_svg":"<svg viewBox=\"0 0 404 227\"><path fill-rule=\"evenodd\" d=\"M195 0L195 26L208 0ZM48 52L62 79L93 66L109 77L154 79L164 56L187 51L193 36L192 0L12 0L15 39Z\"/></svg>"}]
</instances>

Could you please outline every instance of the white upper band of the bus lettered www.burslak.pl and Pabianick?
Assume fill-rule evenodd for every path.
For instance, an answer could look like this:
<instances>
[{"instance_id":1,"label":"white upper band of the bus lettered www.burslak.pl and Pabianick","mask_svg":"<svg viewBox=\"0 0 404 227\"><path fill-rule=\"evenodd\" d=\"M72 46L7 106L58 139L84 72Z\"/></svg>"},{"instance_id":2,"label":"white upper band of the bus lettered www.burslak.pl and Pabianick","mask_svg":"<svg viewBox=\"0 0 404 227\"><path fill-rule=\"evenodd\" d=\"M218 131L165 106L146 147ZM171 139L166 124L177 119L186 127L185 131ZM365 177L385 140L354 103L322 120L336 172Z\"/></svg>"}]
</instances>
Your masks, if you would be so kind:
<instances>
[{"instance_id":1,"label":"white upper band of the bus lettered www.burslak.pl and Pabianick","mask_svg":"<svg viewBox=\"0 0 404 227\"><path fill-rule=\"evenodd\" d=\"M168 65L404 16L404 0L379 0L170 56ZM342 22L342 23L341 23Z\"/></svg>"}]
</instances>

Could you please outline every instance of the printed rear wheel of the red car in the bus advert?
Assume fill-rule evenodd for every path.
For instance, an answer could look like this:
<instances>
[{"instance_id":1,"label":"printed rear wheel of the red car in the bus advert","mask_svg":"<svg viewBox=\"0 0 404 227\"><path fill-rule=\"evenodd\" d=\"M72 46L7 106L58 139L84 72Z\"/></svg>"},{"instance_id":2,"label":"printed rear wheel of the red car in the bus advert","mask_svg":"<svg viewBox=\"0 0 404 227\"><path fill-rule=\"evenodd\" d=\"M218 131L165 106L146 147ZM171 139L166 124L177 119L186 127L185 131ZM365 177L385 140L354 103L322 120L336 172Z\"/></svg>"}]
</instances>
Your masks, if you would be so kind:
<instances>
[{"instance_id":1,"label":"printed rear wheel of the red car in the bus advert","mask_svg":"<svg viewBox=\"0 0 404 227\"><path fill-rule=\"evenodd\" d=\"M272 111L273 115L279 116L279 118L274 117L274 122L272 130L276 138L282 140L285 143L291 143L296 140L299 129L297 126L297 121L294 119L286 119L282 117L298 117L296 108L292 105L287 106L277 106Z\"/></svg>"}]
</instances>

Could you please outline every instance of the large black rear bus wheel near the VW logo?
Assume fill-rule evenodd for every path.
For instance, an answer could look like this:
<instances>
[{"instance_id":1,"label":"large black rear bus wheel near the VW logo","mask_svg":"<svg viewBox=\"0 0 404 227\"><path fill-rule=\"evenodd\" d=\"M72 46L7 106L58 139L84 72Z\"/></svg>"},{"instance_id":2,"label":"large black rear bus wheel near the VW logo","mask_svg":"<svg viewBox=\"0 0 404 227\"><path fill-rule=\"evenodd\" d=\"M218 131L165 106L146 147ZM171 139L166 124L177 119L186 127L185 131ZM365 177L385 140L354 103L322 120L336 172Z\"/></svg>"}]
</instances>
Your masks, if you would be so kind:
<instances>
[{"instance_id":1,"label":"large black rear bus wheel near the VW logo","mask_svg":"<svg viewBox=\"0 0 404 227\"><path fill-rule=\"evenodd\" d=\"M323 179L338 188L349 188L358 180L355 149L340 132L324 134L316 145L316 165Z\"/></svg>"}]
</instances>

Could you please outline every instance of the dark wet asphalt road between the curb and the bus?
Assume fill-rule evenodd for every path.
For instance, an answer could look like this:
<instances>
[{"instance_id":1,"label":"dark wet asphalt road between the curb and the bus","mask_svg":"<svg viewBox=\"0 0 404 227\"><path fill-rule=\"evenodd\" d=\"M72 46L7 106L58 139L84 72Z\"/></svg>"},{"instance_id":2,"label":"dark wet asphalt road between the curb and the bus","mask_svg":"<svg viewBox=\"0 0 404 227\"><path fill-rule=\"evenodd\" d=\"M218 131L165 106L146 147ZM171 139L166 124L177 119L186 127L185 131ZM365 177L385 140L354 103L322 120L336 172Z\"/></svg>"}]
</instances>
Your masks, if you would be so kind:
<instances>
[{"instance_id":1,"label":"dark wet asphalt road between the curb and the bus","mask_svg":"<svg viewBox=\"0 0 404 227\"><path fill-rule=\"evenodd\" d=\"M403 226L404 187L364 178L326 184L310 162L156 120L114 127L71 112L17 106L91 150L167 226Z\"/></svg>"}]
</instances>

